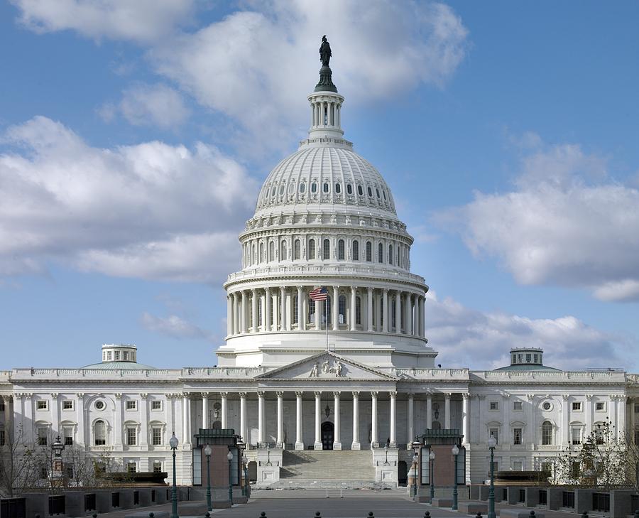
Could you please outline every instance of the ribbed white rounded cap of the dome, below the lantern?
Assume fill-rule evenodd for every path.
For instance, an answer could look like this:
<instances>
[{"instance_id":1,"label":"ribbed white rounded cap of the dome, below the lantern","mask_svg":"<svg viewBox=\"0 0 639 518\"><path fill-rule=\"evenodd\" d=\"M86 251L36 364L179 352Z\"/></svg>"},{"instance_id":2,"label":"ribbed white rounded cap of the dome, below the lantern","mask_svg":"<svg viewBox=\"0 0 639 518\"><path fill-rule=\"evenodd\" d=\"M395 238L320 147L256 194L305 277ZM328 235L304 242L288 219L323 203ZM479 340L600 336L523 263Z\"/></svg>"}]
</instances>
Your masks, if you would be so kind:
<instances>
[{"instance_id":1,"label":"ribbed white rounded cap of the dome, below the lantern","mask_svg":"<svg viewBox=\"0 0 639 518\"><path fill-rule=\"evenodd\" d=\"M352 151L350 143L341 142L344 144L327 146L302 141L300 149L266 178L258 196L256 217L281 212L288 205L326 203L358 210L368 207L396 216L393 195L381 174Z\"/></svg>"}]
</instances>

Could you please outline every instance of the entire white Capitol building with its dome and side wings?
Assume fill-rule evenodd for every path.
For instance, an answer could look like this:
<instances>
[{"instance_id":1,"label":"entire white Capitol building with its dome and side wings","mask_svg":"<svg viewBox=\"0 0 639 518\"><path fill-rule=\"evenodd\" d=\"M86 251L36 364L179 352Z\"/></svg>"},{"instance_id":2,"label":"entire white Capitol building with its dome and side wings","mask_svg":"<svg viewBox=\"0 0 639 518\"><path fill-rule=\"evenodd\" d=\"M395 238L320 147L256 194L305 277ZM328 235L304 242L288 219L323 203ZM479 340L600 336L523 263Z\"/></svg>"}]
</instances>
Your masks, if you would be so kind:
<instances>
[{"instance_id":1,"label":"entire white Capitol building with its dome and side wings","mask_svg":"<svg viewBox=\"0 0 639 518\"><path fill-rule=\"evenodd\" d=\"M562 371L516 343L500 369L437 366L428 286L410 271L413 237L381 173L344 138L327 62L307 98L308 136L268 175L239 235L218 365L158 369L145 365L151 350L138 358L116 344L86 367L0 372L0 443L9 428L40 445L59 435L128 470L171 476L175 432L178 483L198 485L195 434L232 428L259 485L395 485L426 429L463 436L462 483L486 479L491 435L498 470L539 470L606 419L634 440L636 374ZM310 298L320 287L325 300Z\"/></svg>"}]
</instances>

